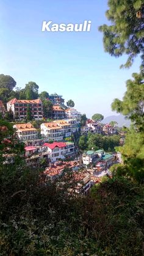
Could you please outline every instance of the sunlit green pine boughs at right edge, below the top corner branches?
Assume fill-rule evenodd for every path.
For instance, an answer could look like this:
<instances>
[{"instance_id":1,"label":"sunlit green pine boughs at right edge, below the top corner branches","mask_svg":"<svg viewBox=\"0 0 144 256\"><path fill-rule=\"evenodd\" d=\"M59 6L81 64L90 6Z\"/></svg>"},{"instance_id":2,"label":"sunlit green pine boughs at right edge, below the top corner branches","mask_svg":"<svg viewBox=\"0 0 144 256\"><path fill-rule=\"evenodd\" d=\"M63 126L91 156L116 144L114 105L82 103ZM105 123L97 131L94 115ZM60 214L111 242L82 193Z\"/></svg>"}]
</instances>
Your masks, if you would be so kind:
<instances>
[{"instance_id":1,"label":"sunlit green pine boughs at right edge, below the top corner branches","mask_svg":"<svg viewBox=\"0 0 144 256\"><path fill-rule=\"evenodd\" d=\"M129 79L126 82L126 93L123 100L115 99L112 103L112 110L126 115L139 130L144 129L144 75L132 74L133 80Z\"/></svg>"}]
</instances>

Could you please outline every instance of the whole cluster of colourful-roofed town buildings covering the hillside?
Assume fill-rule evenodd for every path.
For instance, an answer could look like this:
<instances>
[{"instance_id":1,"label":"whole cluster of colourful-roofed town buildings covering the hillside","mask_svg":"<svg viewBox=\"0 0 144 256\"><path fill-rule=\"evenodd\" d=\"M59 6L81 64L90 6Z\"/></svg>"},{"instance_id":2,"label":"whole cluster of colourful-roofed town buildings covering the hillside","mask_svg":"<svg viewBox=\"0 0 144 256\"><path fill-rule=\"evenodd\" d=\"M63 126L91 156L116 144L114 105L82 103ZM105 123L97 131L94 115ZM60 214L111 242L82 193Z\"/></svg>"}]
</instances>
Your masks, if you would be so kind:
<instances>
[{"instance_id":1,"label":"whole cluster of colourful-roofed town buildings covering the hillside","mask_svg":"<svg viewBox=\"0 0 144 256\"><path fill-rule=\"evenodd\" d=\"M124 134L118 131L117 123L103 124L100 119L87 119L85 114L74 109L73 101L65 106L62 95L48 95L45 102L51 104L48 118L41 98L12 98L7 102L7 108L1 100L1 117L5 119L6 113L11 114L15 137L24 143L22 157L27 166L40 167L43 170L41 175L51 180L60 177L66 169L72 170L73 178L80 182L76 191L87 194L95 183L101 182L101 178L112 175L110 166L119 163L121 158L115 150L106 152L104 148L97 147L95 150L91 146L84 150L79 145L80 140L90 134L104 137L117 134L120 144L123 144ZM5 139L9 142L9 138ZM13 164L12 154L3 156L4 164Z\"/></svg>"}]
</instances>

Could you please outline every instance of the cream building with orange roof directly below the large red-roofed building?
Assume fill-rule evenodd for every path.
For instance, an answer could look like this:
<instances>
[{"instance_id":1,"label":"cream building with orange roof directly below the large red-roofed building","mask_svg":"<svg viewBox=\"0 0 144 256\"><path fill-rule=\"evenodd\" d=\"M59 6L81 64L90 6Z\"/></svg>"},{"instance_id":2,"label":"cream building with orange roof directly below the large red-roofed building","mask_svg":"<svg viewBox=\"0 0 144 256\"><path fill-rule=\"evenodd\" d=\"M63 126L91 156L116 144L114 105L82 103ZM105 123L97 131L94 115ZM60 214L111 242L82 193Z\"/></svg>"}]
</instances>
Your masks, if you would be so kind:
<instances>
[{"instance_id":1,"label":"cream building with orange roof directly below the large red-roofed building","mask_svg":"<svg viewBox=\"0 0 144 256\"><path fill-rule=\"evenodd\" d=\"M34 141L37 139L37 129L31 123L16 124L13 125L13 128L16 129L16 134L20 141Z\"/></svg>"}]
</instances>

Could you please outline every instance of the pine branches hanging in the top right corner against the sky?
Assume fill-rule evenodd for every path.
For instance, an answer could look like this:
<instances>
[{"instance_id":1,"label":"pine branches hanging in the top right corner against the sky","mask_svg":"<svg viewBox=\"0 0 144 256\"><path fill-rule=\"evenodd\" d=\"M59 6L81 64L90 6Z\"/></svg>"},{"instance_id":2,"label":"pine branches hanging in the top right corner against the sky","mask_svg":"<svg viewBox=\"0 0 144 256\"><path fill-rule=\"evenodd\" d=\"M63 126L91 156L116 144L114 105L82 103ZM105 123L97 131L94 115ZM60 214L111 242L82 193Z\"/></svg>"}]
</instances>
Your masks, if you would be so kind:
<instances>
[{"instance_id":1,"label":"pine branches hanging in the top right corner against the sky","mask_svg":"<svg viewBox=\"0 0 144 256\"><path fill-rule=\"evenodd\" d=\"M130 67L135 57L142 54L144 67L143 0L109 0L108 5L106 16L112 24L99 27L104 34L105 51L115 57L128 54L126 64L121 67Z\"/></svg>"}]
</instances>

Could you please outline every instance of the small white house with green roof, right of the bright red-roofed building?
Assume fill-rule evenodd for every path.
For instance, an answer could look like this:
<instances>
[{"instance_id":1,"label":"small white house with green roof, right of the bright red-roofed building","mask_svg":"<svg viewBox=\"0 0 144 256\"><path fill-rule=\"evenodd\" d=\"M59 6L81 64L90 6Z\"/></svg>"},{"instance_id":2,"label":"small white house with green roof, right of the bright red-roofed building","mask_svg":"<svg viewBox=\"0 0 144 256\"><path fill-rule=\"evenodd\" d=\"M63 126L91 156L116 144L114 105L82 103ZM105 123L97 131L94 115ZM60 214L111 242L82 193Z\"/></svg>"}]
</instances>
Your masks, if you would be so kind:
<instances>
[{"instance_id":1,"label":"small white house with green roof, right of the bright red-roofed building","mask_svg":"<svg viewBox=\"0 0 144 256\"><path fill-rule=\"evenodd\" d=\"M93 150L88 150L84 154L82 154L82 161L84 164L93 164L96 163L99 160L99 157L96 152Z\"/></svg>"}]
</instances>

